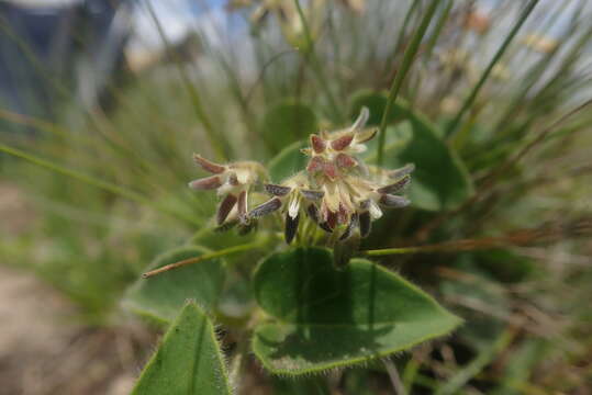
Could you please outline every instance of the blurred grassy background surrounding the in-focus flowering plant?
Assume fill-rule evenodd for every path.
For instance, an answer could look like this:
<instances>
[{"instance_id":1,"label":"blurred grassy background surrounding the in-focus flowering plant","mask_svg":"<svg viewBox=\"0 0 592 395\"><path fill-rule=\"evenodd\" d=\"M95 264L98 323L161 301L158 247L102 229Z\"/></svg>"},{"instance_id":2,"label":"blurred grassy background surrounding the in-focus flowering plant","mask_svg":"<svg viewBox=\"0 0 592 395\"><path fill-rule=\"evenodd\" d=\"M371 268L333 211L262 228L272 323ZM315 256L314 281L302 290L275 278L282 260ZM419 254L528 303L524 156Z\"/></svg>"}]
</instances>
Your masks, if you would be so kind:
<instances>
[{"instance_id":1,"label":"blurred grassy background surrounding the in-focus flowering plant","mask_svg":"<svg viewBox=\"0 0 592 395\"><path fill-rule=\"evenodd\" d=\"M214 212L192 153L267 162L376 114L429 1L300 3L0 1L0 394L127 394L159 330L121 297ZM400 97L437 131L424 171L447 150L463 190L417 161L427 192L366 241L445 244L381 260L466 319L396 359L411 394L592 393L590 21L590 0L438 4ZM247 372L242 393L299 393ZM380 369L334 382L392 392Z\"/></svg>"}]
</instances>

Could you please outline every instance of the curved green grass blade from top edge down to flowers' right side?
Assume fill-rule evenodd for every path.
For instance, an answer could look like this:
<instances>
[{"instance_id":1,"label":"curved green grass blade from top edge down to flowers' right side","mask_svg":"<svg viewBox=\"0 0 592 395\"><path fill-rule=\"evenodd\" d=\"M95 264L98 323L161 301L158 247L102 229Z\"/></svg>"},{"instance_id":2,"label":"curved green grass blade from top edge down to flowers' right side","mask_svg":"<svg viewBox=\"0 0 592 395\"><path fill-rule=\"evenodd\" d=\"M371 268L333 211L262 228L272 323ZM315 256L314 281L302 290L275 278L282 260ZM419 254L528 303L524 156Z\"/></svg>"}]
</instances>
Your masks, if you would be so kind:
<instances>
[{"instance_id":1,"label":"curved green grass blade from top edge down to flowers' right side","mask_svg":"<svg viewBox=\"0 0 592 395\"><path fill-rule=\"evenodd\" d=\"M417 54L417 50L420 49L420 44L422 43L422 40L427 31L427 26L429 26L429 22L432 21L432 18L434 16L434 12L436 11L436 8L438 7L439 1L438 0L432 0L432 3L429 4L429 8L424 14L424 18L422 19L422 23L420 24L420 27L415 31L413 34L413 37L411 38L411 43L409 47L405 49L405 53L403 55L403 60L401 64L401 69L396 71L396 76L394 77L394 80L391 86L391 90L389 92L389 99L387 100L387 106L384 108L384 112L382 113L382 120L380 122L380 128L378 131L378 160L377 165L382 165L382 159L384 156L384 132L387 129L387 120L388 114L391 111L392 104L394 103L394 100L396 99L399 91L401 90L401 87L403 86L403 80L407 74L407 71L411 68L411 65L413 64L413 60L415 58L415 55Z\"/></svg>"}]
</instances>

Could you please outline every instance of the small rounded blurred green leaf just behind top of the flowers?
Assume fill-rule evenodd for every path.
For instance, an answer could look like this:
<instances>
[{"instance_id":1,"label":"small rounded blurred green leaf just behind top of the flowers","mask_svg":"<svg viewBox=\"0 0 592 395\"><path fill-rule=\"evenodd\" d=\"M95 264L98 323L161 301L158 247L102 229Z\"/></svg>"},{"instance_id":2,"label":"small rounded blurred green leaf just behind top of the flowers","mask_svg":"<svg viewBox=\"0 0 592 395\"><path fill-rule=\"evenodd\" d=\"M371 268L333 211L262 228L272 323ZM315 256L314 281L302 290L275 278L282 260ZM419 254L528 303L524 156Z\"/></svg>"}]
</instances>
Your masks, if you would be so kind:
<instances>
[{"instance_id":1,"label":"small rounded blurred green leaf just behind top of the flowers","mask_svg":"<svg viewBox=\"0 0 592 395\"><path fill-rule=\"evenodd\" d=\"M293 101L275 105L265 114L261 125L261 134L275 153L316 132L316 115L312 109Z\"/></svg>"}]
</instances>

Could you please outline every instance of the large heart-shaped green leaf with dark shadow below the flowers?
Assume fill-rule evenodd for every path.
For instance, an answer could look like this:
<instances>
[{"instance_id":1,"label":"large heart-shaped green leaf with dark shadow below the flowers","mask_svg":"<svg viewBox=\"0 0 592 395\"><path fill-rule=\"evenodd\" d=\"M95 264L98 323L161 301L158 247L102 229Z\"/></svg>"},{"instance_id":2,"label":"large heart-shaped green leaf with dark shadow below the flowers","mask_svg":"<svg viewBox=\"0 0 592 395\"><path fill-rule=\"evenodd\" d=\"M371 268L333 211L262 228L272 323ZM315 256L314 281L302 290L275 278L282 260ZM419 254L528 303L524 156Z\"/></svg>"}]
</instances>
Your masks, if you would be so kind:
<instances>
[{"instance_id":1,"label":"large heart-shaped green leaf with dark shadow below the flowers","mask_svg":"<svg viewBox=\"0 0 592 395\"><path fill-rule=\"evenodd\" d=\"M259 324L253 350L277 374L362 363L448 334L460 319L413 284L365 259L336 271L328 250L275 253L253 280Z\"/></svg>"}]
</instances>

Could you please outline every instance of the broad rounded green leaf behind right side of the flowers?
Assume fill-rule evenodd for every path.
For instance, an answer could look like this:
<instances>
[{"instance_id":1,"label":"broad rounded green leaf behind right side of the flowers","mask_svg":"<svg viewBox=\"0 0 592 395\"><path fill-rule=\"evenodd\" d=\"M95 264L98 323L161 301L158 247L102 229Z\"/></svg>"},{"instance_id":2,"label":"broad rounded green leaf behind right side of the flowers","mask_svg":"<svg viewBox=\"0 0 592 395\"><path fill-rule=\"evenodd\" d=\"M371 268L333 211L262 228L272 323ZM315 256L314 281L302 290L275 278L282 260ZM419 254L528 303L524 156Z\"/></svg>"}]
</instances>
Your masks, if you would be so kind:
<instances>
[{"instance_id":1,"label":"broad rounded green leaf behind right side of the flowers","mask_svg":"<svg viewBox=\"0 0 592 395\"><path fill-rule=\"evenodd\" d=\"M354 95L351 112L367 105L371 121L382 116L387 97L382 93L360 92ZM453 210L473 194L469 173L454 151L439 137L442 133L425 116L409 108L403 101L393 104L393 115L389 123L406 121L398 127L387 129L394 136L387 136L384 167L396 168L405 163L415 163L413 182L409 196L417 208L428 211ZM375 114L372 115L372 112ZM411 126L411 135L404 132L404 125ZM391 138L390 138L391 137ZM394 138L395 142L392 142ZM404 144L396 144L396 139ZM369 153L373 151L369 146ZM375 148L376 149L376 148Z\"/></svg>"}]
</instances>

